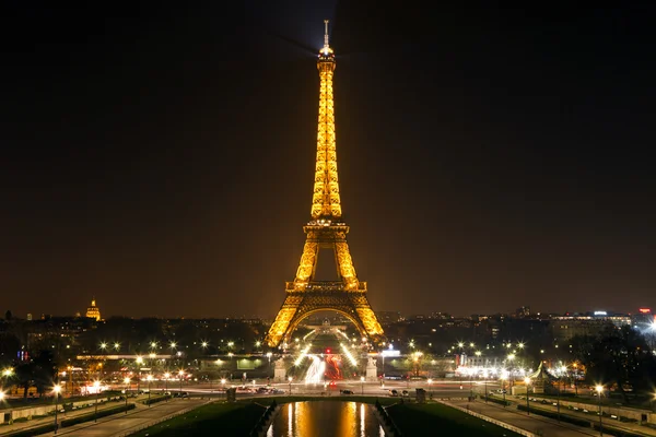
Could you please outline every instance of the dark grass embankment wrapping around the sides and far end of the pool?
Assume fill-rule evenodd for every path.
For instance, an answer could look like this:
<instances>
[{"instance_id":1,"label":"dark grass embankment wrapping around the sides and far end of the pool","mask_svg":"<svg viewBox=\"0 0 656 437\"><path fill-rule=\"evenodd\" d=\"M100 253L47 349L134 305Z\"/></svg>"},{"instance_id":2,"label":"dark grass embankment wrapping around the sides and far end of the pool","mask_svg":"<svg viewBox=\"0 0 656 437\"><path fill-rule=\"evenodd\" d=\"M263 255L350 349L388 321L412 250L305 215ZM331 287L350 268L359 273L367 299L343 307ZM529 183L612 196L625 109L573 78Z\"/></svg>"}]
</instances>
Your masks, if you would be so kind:
<instances>
[{"instance_id":1,"label":"dark grass embankment wrapping around the sides and far end of the pool","mask_svg":"<svg viewBox=\"0 0 656 437\"><path fill-rule=\"evenodd\" d=\"M241 400L235 403L212 403L189 413L162 422L155 426L137 433L141 437L186 437L221 435L244 436L255 426L263 414L266 406L276 399L279 404L305 401L344 401L373 404L376 398L356 395L336 397L276 397ZM481 421L442 404L400 403L398 398L378 398L383 405L388 405L388 413L405 436L432 435L440 429L443 435L461 437L481 436L517 436L508 429ZM393 405L393 406L389 406Z\"/></svg>"}]
</instances>

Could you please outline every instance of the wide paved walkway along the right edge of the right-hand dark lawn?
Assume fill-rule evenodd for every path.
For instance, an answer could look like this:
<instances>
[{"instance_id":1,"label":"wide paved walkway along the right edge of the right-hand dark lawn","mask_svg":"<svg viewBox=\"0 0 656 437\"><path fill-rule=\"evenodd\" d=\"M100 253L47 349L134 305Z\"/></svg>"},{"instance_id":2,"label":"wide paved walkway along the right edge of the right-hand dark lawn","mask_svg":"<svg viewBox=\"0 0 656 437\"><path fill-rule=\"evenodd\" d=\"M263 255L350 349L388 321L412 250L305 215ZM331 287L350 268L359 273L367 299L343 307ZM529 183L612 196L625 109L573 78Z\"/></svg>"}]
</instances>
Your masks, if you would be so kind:
<instances>
[{"instance_id":1,"label":"wide paved walkway along the right edge of the right-hand dark lawn","mask_svg":"<svg viewBox=\"0 0 656 437\"><path fill-rule=\"evenodd\" d=\"M591 428L583 428L581 426L571 424L558 423L557 421L535 414L528 416L525 412L517 411L514 405L503 408L502 405L497 405L493 402L467 402L465 400L452 400L449 402L444 401L444 403L464 409L469 406L470 411L546 437L599 436L599 432ZM608 434L605 434L605 436L608 436Z\"/></svg>"}]
</instances>

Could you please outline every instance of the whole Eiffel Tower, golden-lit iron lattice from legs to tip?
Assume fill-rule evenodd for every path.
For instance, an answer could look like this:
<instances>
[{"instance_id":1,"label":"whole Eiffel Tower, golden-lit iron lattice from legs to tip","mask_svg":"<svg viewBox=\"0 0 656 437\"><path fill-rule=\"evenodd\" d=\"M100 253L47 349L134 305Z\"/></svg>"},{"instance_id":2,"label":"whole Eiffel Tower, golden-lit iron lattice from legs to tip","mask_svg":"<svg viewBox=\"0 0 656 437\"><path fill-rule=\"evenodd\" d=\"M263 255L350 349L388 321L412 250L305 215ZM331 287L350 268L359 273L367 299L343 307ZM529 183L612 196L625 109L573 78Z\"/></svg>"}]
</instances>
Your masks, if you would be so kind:
<instances>
[{"instance_id":1,"label":"whole Eiffel Tower, golden-lit iron lattice from legs to tip","mask_svg":"<svg viewBox=\"0 0 656 437\"><path fill-rule=\"evenodd\" d=\"M349 226L341 220L337 178L332 75L335 52L328 45L328 20L324 48L319 51L319 122L312 218L303 226L306 234L296 277L285 285L286 297L267 333L270 347L290 340L298 323L314 312L335 310L355 324L362 336L376 341L383 328L366 298L366 282L358 280L349 251ZM320 249L332 249L338 281L317 281L315 273Z\"/></svg>"}]
</instances>

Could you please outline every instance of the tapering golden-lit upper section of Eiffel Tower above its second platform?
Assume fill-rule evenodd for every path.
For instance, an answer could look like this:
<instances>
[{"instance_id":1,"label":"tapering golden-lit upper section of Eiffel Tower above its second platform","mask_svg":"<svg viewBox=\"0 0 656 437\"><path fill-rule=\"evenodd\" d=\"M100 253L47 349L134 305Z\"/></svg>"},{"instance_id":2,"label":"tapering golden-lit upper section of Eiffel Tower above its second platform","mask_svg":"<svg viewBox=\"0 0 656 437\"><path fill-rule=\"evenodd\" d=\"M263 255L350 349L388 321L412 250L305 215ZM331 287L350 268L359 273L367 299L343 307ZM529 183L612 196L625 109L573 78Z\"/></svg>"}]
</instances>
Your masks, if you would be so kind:
<instances>
[{"instance_id":1,"label":"tapering golden-lit upper section of Eiffel Tower above its second platform","mask_svg":"<svg viewBox=\"0 0 656 437\"><path fill-rule=\"evenodd\" d=\"M335 139L335 102L332 98L335 52L328 46L328 20L324 20L324 48L319 51L317 59L320 84L317 162L312 197L313 220L341 217Z\"/></svg>"}]
</instances>

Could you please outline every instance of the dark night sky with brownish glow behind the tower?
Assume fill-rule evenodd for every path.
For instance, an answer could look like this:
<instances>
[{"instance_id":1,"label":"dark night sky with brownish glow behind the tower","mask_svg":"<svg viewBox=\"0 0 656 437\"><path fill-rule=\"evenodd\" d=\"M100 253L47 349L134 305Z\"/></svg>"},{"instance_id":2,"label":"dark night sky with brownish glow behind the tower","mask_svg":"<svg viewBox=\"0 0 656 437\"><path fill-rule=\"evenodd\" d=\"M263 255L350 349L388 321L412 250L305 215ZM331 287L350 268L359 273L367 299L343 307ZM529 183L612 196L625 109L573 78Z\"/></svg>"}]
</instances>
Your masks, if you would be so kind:
<instances>
[{"instance_id":1,"label":"dark night sky with brownish glow behind the tower","mask_svg":"<svg viewBox=\"0 0 656 437\"><path fill-rule=\"evenodd\" d=\"M2 311L273 316L324 17L375 310L656 306L653 2L59 3L0 7Z\"/></svg>"}]
</instances>

